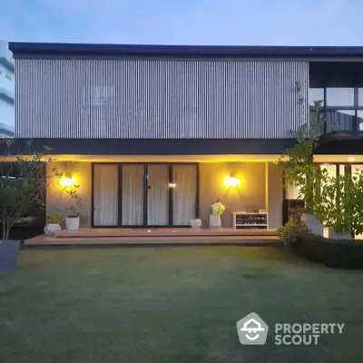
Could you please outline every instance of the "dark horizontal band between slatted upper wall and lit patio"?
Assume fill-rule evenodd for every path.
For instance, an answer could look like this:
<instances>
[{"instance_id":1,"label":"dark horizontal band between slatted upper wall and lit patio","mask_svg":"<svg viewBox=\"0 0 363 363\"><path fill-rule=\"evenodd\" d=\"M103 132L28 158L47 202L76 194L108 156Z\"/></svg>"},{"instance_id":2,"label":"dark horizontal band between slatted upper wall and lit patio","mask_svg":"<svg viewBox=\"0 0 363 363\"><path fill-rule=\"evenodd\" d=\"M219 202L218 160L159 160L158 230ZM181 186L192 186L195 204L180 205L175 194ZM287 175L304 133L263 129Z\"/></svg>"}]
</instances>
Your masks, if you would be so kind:
<instances>
[{"instance_id":1,"label":"dark horizontal band between slatted upper wall and lit patio","mask_svg":"<svg viewBox=\"0 0 363 363\"><path fill-rule=\"evenodd\" d=\"M27 150L29 139L15 139L12 154ZM32 149L49 155L237 155L280 154L293 139L33 139ZM1 150L0 144L0 152Z\"/></svg>"}]
</instances>

